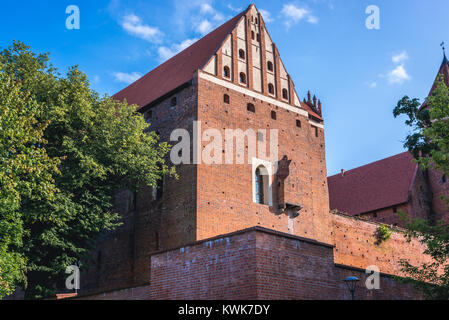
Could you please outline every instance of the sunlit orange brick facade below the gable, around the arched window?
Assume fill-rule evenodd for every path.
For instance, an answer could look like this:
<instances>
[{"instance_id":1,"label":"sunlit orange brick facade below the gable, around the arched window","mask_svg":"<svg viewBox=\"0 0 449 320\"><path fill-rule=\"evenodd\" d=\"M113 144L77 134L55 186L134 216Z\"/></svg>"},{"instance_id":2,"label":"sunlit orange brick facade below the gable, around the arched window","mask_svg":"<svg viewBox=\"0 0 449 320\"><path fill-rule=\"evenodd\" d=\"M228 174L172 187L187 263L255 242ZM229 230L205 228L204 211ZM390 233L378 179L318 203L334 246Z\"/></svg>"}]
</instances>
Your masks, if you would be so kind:
<instances>
[{"instance_id":1,"label":"sunlit orange brick facade below the gable, around the arched window","mask_svg":"<svg viewBox=\"0 0 449 320\"><path fill-rule=\"evenodd\" d=\"M284 155L292 160L285 180L285 200L304 208L298 218L289 219L276 215L266 205L254 203L252 166L247 154L246 164L242 165L201 164L197 173L197 239L262 226L330 243L324 131L319 129L319 136L315 137L306 117L207 80L200 78L198 88L198 119L203 131L218 129L224 137L225 129L278 129L278 160ZM230 104L223 102L224 94L230 96ZM254 104L255 113L247 111L248 103ZM276 120L271 119L271 111L276 112ZM296 126L296 120L301 121L302 128ZM202 148L207 144L203 143ZM246 151L247 147L245 141Z\"/></svg>"}]
</instances>

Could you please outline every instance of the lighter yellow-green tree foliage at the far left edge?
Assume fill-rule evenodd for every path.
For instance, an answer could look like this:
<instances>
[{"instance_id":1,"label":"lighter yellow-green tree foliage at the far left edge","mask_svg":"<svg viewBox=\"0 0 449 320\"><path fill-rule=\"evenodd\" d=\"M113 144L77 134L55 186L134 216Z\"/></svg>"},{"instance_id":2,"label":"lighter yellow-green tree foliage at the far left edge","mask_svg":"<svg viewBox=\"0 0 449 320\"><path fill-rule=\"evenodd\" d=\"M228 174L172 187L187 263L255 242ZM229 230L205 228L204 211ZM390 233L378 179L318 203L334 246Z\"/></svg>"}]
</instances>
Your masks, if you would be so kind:
<instances>
[{"instance_id":1,"label":"lighter yellow-green tree foliage at the far left edge","mask_svg":"<svg viewBox=\"0 0 449 320\"><path fill-rule=\"evenodd\" d=\"M48 125L38 123L40 113L21 82L0 72L0 299L25 280L21 203L51 200L56 191L59 161L40 147Z\"/></svg>"}]
</instances>

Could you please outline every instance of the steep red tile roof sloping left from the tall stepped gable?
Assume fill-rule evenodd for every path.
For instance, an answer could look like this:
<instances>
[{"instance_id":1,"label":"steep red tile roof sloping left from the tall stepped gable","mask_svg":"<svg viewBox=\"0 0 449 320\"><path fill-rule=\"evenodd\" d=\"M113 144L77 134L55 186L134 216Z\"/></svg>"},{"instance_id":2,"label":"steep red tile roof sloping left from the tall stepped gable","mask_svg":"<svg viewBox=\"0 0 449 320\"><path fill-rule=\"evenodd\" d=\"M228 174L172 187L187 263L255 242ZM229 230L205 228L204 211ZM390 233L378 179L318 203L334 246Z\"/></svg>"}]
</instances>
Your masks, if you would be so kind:
<instances>
[{"instance_id":1,"label":"steep red tile roof sloping left from the tall stepped gable","mask_svg":"<svg viewBox=\"0 0 449 320\"><path fill-rule=\"evenodd\" d=\"M126 98L129 104L144 107L190 81L195 71L203 68L215 54L247 10L116 93L114 98L120 101Z\"/></svg>"}]
</instances>

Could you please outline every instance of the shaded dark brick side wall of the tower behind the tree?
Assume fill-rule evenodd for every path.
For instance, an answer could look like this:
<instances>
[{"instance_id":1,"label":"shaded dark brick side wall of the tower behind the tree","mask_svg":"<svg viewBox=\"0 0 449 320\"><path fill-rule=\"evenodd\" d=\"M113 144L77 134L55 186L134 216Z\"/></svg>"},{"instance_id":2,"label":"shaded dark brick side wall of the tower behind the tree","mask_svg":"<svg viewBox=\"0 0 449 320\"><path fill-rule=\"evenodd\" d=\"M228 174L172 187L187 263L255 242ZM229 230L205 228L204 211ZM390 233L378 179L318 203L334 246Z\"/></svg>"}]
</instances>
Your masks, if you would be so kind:
<instances>
[{"instance_id":1,"label":"shaded dark brick side wall of the tower behind the tree","mask_svg":"<svg viewBox=\"0 0 449 320\"><path fill-rule=\"evenodd\" d=\"M172 97L177 97L176 106L171 106ZM177 128L191 133L196 97L196 87L191 85L153 106L150 130L159 133L162 141L169 141ZM118 194L116 208L124 225L99 240L98 250L92 253L97 266L82 275L85 293L148 283L152 252L196 240L196 169L179 165L176 171L178 180L164 178L161 200L153 198L151 187L142 188L136 199L129 192Z\"/></svg>"}]
</instances>

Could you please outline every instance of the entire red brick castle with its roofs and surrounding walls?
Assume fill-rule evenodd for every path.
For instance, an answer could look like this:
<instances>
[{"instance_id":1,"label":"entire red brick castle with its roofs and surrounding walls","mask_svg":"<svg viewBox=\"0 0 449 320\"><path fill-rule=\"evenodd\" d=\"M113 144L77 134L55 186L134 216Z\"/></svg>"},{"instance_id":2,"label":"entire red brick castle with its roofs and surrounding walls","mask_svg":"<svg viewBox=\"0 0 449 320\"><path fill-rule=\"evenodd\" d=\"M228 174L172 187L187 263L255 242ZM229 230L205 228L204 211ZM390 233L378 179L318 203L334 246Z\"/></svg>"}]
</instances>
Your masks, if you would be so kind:
<instances>
[{"instance_id":1,"label":"entire red brick castle with its roofs and surrounding walls","mask_svg":"<svg viewBox=\"0 0 449 320\"><path fill-rule=\"evenodd\" d=\"M191 137L209 129L223 137L227 129L277 130L277 158L245 152L234 164L195 162L208 142L192 141L192 162L176 165L178 180L165 177L157 188L117 197L125 224L100 239L81 298L349 299L343 279L351 275L361 280L358 299L419 298L391 275L401 275L400 259L426 261L422 246L407 243L400 229L378 244L378 224L359 217L410 201L410 179L421 179L416 168L406 154L381 164L395 171L400 162L393 179L400 190L388 191L391 199L354 194L357 202L345 207L346 182L327 178L321 102L295 88L254 5L115 98L137 104L164 141L176 129ZM254 143L246 138L243 150ZM256 139L259 146L275 142L270 134ZM377 173L341 179L354 186L354 176ZM328 181L331 196L343 199L329 202ZM343 213L331 213L329 203ZM370 266L381 272L378 290L365 286Z\"/></svg>"}]
</instances>

